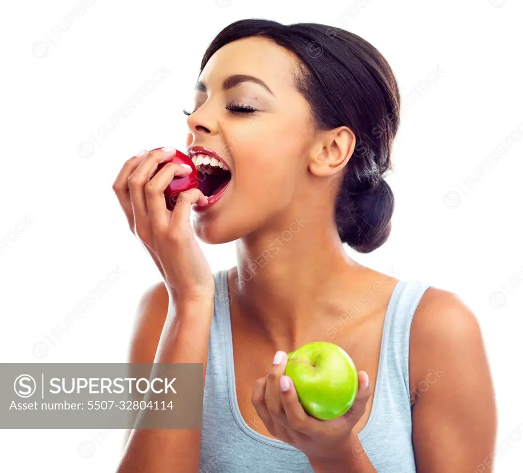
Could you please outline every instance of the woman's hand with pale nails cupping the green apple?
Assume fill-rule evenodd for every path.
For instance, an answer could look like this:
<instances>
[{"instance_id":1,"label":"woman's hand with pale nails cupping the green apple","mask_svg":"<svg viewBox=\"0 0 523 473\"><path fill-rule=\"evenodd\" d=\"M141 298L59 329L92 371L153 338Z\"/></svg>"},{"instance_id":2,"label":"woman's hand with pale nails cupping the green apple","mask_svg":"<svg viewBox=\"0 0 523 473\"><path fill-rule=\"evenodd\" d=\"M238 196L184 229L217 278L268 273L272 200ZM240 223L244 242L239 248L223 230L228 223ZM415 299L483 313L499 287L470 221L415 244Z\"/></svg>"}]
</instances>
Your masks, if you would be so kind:
<instances>
[{"instance_id":1,"label":"woman's hand with pale nails cupping the green apple","mask_svg":"<svg viewBox=\"0 0 523 473\"><path fill-rule=\"evenodd\" d=\"M256 380L251 402L269 433L300 449L310 460L343 458L351 455L355 435L353 429L365 412L371 395L365 371L358 371L359 389L350 409L336 419L323 421L307 414L292 379L285 376L288 356L285 352L270 373ZM287 388L287 389L286 389Z\"/></svg>"}]
</instances>

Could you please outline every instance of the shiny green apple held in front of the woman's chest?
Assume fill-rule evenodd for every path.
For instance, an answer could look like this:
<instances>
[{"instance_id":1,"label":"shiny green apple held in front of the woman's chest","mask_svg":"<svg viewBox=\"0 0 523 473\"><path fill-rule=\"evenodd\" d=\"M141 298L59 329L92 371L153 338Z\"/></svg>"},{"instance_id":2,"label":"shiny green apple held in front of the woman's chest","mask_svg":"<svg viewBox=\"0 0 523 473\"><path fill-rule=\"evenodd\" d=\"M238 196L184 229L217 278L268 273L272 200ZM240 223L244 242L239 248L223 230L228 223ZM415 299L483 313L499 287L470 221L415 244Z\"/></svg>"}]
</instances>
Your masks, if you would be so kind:
<instances>
[{"instance_id":1,"label":"shiny green apple held in front of the woman's chest","mask_svg":"<svg viewBox=\"0 0 523 473\"><path fill-rule=\"evenodd\" d=\"M286 376L303 409L316 419L335 419L353 405L358 371L350 356L330 342L312 342L289 353Z\"/></svg>"}]
</instances>

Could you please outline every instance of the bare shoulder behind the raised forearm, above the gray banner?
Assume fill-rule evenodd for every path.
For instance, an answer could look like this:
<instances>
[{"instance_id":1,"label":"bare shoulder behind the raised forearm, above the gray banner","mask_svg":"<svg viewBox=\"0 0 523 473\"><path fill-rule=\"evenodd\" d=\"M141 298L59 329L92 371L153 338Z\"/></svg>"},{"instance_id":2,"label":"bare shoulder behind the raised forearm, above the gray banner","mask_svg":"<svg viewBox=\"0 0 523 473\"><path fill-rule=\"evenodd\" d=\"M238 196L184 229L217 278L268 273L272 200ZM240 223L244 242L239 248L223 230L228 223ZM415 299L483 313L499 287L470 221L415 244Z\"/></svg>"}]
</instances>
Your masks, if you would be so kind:
<instances>
[{"instance_id":1,"label":"bare shoulder behind the raised forearm, above the gray banner","mask_svg":"<svg viewBox=\"0 0 523 473\"><path fill-rule=\"evenodd\" d=\"M163 281L152 285L141 296L131 335L130 363L153 363L168 305L169 295Z\"/></svg>"}]
</instances>

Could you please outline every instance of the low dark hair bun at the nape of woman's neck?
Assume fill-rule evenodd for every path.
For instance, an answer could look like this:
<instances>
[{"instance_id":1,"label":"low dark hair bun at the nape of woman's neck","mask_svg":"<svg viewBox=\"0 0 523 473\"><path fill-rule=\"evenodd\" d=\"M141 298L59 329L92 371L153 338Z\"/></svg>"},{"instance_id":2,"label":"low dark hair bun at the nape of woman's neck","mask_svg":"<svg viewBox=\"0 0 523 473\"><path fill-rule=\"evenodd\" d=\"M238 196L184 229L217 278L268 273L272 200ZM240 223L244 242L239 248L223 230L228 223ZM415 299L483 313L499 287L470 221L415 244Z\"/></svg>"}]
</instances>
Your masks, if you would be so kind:
<instances>
[{"instance_id":1,"label":"low dark hair bun at the nape of woman's neck","mask_svg":"<svg viewBox=\"0 0 523 473\"><path fill-rule=\"evenodd\" d=\"M394 195L385 179L356 195L339 197L336 214L342 241L359 253L370 253L385 243L394 210Z\"/></svg>"}]
</instances>

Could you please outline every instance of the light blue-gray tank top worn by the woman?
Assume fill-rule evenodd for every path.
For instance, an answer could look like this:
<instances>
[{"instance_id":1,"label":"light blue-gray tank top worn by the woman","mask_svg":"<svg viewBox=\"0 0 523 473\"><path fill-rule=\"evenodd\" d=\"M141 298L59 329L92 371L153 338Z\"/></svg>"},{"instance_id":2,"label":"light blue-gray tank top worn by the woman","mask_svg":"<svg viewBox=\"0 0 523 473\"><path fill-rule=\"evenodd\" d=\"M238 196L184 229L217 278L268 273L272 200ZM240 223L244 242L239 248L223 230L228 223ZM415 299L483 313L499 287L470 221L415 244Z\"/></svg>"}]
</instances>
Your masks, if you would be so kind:
<instances>
[{"instance_id":1,"label":"light blue-gray tank top worn by the woman","mask_svg":"<svg viewBox=\"0 0 523 473\"><path fill-rule=\"evenodd\" d=\"M203 393L199 471L314 473L303 452L256 432L260 420L242 418L236 399L227 272L224 269L213 274L214 314ZM414 311L428 287L419 280L400 280L386 310L372 408L358 434L362 450L354 451L355 455L367 455L378 473L416 472L408 346Z\"/></svg>"}]
</instances>

